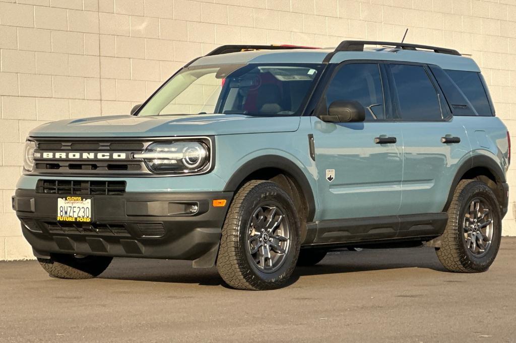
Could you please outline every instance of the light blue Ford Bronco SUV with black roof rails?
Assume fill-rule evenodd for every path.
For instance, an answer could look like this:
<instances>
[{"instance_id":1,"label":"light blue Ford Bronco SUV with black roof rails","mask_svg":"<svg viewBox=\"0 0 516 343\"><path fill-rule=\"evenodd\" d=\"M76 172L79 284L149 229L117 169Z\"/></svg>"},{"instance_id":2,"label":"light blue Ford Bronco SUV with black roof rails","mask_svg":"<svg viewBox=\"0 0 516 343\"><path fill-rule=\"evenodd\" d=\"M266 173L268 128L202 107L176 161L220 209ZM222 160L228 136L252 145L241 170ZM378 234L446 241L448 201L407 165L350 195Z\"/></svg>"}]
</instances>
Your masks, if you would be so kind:
<instances>
[{"instance_id":1,"label":"light blue Ford Bronco SUV with black roof rails","mask_svg":"<svg viewBox=\"0 0 516 343\"><path fill-rule=\"evenodd\" d=\"M58 278L121 256L271 289L331 249L422 244L479 272L500 244L509 162L486 82L456 50L229 45L132 115L31 131L12 203Z\"/></svg>"}]
</instances>

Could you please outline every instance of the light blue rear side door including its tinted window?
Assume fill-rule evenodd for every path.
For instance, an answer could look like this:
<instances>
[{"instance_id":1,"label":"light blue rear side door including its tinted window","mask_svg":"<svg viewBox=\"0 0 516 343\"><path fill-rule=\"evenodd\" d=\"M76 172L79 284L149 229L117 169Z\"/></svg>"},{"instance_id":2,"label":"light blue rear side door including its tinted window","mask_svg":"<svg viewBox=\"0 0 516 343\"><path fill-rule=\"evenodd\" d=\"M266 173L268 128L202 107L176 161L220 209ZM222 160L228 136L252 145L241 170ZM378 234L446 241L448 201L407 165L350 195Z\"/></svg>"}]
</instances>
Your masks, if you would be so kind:
<instances>
[{"instance_id":1,"label":"light blue rear side door including its tinted window","mask_svg":"<svg viewBox=\"0 0 516 343\"><path fill-rule=\"evenodd\" d=\"M442 212L457 166L470 156L466 130L451 116L428 66L389 63L387 69L404 142L399 214ZM404 226L401 219L400 235L423 235L424 231L424 227Z\"/></svg>"}]
</instances>

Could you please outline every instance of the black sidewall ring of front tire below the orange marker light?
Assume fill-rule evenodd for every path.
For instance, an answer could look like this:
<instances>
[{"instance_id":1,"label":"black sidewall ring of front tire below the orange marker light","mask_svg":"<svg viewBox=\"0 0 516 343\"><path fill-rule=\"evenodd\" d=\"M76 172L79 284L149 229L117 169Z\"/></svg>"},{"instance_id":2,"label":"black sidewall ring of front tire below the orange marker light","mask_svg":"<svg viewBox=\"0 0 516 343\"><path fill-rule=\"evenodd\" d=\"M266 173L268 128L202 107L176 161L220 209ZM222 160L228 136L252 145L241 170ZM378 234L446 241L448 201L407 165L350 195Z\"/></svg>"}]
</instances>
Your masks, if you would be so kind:
<instances>
[{"instance_id":1,"label":"black sidewall ring of front tire below the orange marker light","mask_svg":"<svg viewBox=\"0 0 516 343\"><path fill-rule=\"evenodd\" d=\"M240 222L239 222L239 230L238 230L238 247L239 253L245 256L249 273L253 278L260 280L265 285L269 285L269 287L276 287L278 283L283 281L286 282L286 279L292 273L294 266L297 263L297 258L299 254L300 248L300 226L299 220L296 215L295 209L293 208L293 202L288 197L288 195L281 190L275 184L261 184L257 186L254 192L249 192L239 211ZM280 205L281 210L285 215L283 220L288 220L288 230L291 241L289 249L286 253L285 260L283 261L281 267L274 272L263 272L261 271L254 263L252 256L248 252L247 244L248 244L248 225L249 220L256 210L261 204L264 203L277 203ZM268 288L268 287L267 287Z\"/></svg>"}]
</instances>

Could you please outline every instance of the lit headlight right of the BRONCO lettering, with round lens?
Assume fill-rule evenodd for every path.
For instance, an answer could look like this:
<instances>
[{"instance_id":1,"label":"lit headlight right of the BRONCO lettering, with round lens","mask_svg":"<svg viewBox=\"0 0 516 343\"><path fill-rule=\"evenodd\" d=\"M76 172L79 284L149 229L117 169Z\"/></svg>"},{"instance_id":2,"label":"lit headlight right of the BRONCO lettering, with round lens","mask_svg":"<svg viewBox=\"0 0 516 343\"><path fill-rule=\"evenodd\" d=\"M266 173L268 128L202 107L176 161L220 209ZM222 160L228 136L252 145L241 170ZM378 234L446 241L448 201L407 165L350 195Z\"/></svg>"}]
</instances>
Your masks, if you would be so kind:
<instances>
[{"instance_id":1,"label":"lit headlight right of the BRONCO lettering, with round lens","mask_svg":"<svg viewBox=\"0 0 516 343\"><path fill-rule=\"evenodd\" d=\"M134 157L154 173L194 174L209 167L209 149L203 142L159 142Z\"/></svg>"}]
</instances>

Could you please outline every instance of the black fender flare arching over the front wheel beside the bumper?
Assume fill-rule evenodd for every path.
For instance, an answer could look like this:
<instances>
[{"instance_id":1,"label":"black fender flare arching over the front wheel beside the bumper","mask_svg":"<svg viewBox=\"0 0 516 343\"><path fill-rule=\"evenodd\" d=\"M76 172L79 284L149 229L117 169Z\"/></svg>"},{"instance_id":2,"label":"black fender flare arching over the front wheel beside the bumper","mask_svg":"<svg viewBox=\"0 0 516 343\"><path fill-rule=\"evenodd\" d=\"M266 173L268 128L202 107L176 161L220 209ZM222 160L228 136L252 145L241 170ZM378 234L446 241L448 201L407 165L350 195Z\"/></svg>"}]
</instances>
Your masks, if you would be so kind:
<instances>
[{"instance_id":1,"label":"black fender flare arching over the front wheel beside the bumper","mask_svg":"<svg viewBox=\"0 0 516 343\"><path fill-rule=\"evenodd\" d=\"M310 182L308 182L308 179L301 168L286 157L278 155L263 155L247 161L241 165L235 173L233 173L224 187L224 192L235 192L242 181L256 170L263 168L277 168L284 170L288 176L292 177L298 183L301 188L301 192L303 192L304 198L307 201L307 222L312 221L315 216L315 198Z\"/></svg>"}]
</instances>

